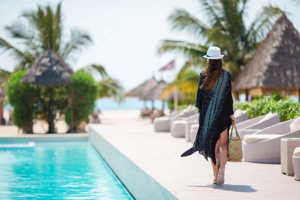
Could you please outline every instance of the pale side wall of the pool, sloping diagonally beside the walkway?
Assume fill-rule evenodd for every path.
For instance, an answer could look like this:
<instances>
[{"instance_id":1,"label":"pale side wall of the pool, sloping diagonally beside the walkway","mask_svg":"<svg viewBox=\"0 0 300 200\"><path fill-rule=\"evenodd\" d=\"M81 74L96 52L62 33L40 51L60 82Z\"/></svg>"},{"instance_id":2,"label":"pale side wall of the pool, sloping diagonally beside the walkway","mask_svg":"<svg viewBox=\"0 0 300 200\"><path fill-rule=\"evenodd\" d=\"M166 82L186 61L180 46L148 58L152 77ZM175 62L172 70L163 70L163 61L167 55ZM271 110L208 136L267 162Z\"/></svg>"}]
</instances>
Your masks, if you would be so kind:
<instances>
[{"instance_id":1,"label":"pale side wall of the pool, sloping diagonally beside the walkway","mask_svg":"<svg viewBox=\"0 0 300 200\"><path fill-rule=\"evenodd\" d=\"M136 199L178 199L89 126L88 139L118 179Z\"/></svg>"}]
</instances>

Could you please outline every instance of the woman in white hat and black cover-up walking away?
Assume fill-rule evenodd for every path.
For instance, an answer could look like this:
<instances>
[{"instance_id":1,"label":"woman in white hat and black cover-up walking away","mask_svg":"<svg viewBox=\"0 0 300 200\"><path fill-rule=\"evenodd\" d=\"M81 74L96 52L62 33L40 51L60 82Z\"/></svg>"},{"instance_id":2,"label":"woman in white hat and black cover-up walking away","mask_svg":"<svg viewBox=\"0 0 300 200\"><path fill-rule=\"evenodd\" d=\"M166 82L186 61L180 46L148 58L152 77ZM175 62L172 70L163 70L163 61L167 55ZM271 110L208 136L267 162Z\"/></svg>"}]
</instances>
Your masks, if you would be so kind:
<instances>
[{"instance_id":1,"label":"woman in white hat and black cover-up walking away","mask_svg":"<svg viewBox=\"0 0 300 200\"><path fill-rule=\"evenodd\" d=\"M187 156L195 151L210 157L213 170L213 184L224 183L224 170L227 157L228 130L233 116L230 73L223 69L220 48L211 46L204 55L207 68L199 75L199 84L195 106L199 113L199 128L193 146L182 153ZM219 160L218 169L216 161Z\"/></svg>"}]
</instances>

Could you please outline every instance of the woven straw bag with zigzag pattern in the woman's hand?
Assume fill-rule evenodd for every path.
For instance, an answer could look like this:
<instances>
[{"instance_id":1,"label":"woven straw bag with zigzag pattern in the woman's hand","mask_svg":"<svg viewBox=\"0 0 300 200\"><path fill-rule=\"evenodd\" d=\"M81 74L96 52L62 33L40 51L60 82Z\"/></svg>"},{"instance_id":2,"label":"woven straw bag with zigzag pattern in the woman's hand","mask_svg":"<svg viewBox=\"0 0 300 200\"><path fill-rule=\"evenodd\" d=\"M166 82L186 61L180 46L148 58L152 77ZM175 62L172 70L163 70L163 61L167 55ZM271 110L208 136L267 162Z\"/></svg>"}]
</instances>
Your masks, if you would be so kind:
<instances>
[{"instance_id":1,"label":"woven straw bag with zigzag pattern in the woman's hand","mask_svg":"<svg viewBox=\"0 0 300 200\"><path fill-rule=\"evenodd\" d=\"M241 162L242 160L241 140L235 124L232 123L231 126L232 128L231 128L231 133L228 141L228 155L226 160L228 162ZM235 133L236 133L235 137L232 137L233 126L235 128Z\"/></svg>"}]
</instances>

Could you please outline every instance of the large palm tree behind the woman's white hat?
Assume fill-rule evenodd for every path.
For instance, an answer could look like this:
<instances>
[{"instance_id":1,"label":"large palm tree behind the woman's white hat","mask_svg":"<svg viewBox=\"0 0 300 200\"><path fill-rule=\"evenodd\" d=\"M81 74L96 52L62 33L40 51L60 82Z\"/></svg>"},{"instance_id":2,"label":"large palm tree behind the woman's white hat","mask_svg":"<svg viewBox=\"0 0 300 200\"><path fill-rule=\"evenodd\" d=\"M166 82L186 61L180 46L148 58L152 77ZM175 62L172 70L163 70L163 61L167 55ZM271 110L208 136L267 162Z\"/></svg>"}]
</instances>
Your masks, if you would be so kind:
<instances>
[{"instance_id":1,"label":"large palm tree behind the woman's white hat","mask_svg":"<svg viewBox=\"0 0 300 200\"><path fill-rule=\"evenodd\" d=\"M186 31L198 38L200 42L192 43L181 40L163 40L158 53L179 52L187 57L187 61L179 71L200 71L206 65L202 55L210 45L217 45L222 49L224 68L231 73L232 79L242 70L245 62L251 58L259 42L265 37L278 15L282 11L271 4L263 6L254 20L246 27L246 4L248 0L199 0L200 7L205 13L208 23L190 14L184 9L176 9L168 20L172 28ZM185 81L196 81L197 75L177 78L177 85ZM173 84L174 84L173 83ZM171 91L171 84L164 93ZM180 87L180 86L179 86ZM182 92L182 91L181 91Z\"/></svg>"}]
</instances>

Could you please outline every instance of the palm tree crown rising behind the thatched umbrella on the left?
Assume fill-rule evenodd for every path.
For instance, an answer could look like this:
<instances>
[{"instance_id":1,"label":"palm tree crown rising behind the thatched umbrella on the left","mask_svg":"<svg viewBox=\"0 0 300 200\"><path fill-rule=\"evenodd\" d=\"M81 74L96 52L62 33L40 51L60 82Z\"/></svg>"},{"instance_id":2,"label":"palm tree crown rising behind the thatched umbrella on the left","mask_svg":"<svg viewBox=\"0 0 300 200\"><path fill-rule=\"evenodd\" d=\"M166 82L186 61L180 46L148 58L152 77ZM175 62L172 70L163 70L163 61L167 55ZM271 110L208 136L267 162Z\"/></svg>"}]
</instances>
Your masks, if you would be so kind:
<instances>
[{"instance_id":1,"label":"palm tree crown rising behind the thatched umbrella on the left","mask_svg":"<svg viewBox=\"0 0 300 200\"><path fill-rule=\"evenodd\" d=\"M77 55L92 43L89 34L78 28L72 28L69 38L64 39L61 3L58 3L55 9L50 5L38 5L37 10L23 12L18 20L5 29L18 42L16 47L0 37L0 50L9 51L17 61L14 71L29 68L48 46L66 61L74 61ZM113 96L116 100L122 99L122 86L117 80L109 77L103 66L88 64L78 70L97 77L96 80L101 86L99 97ZM1 84L9 75L10 72L0 69Z\"/></svg>"}]
</instances>

